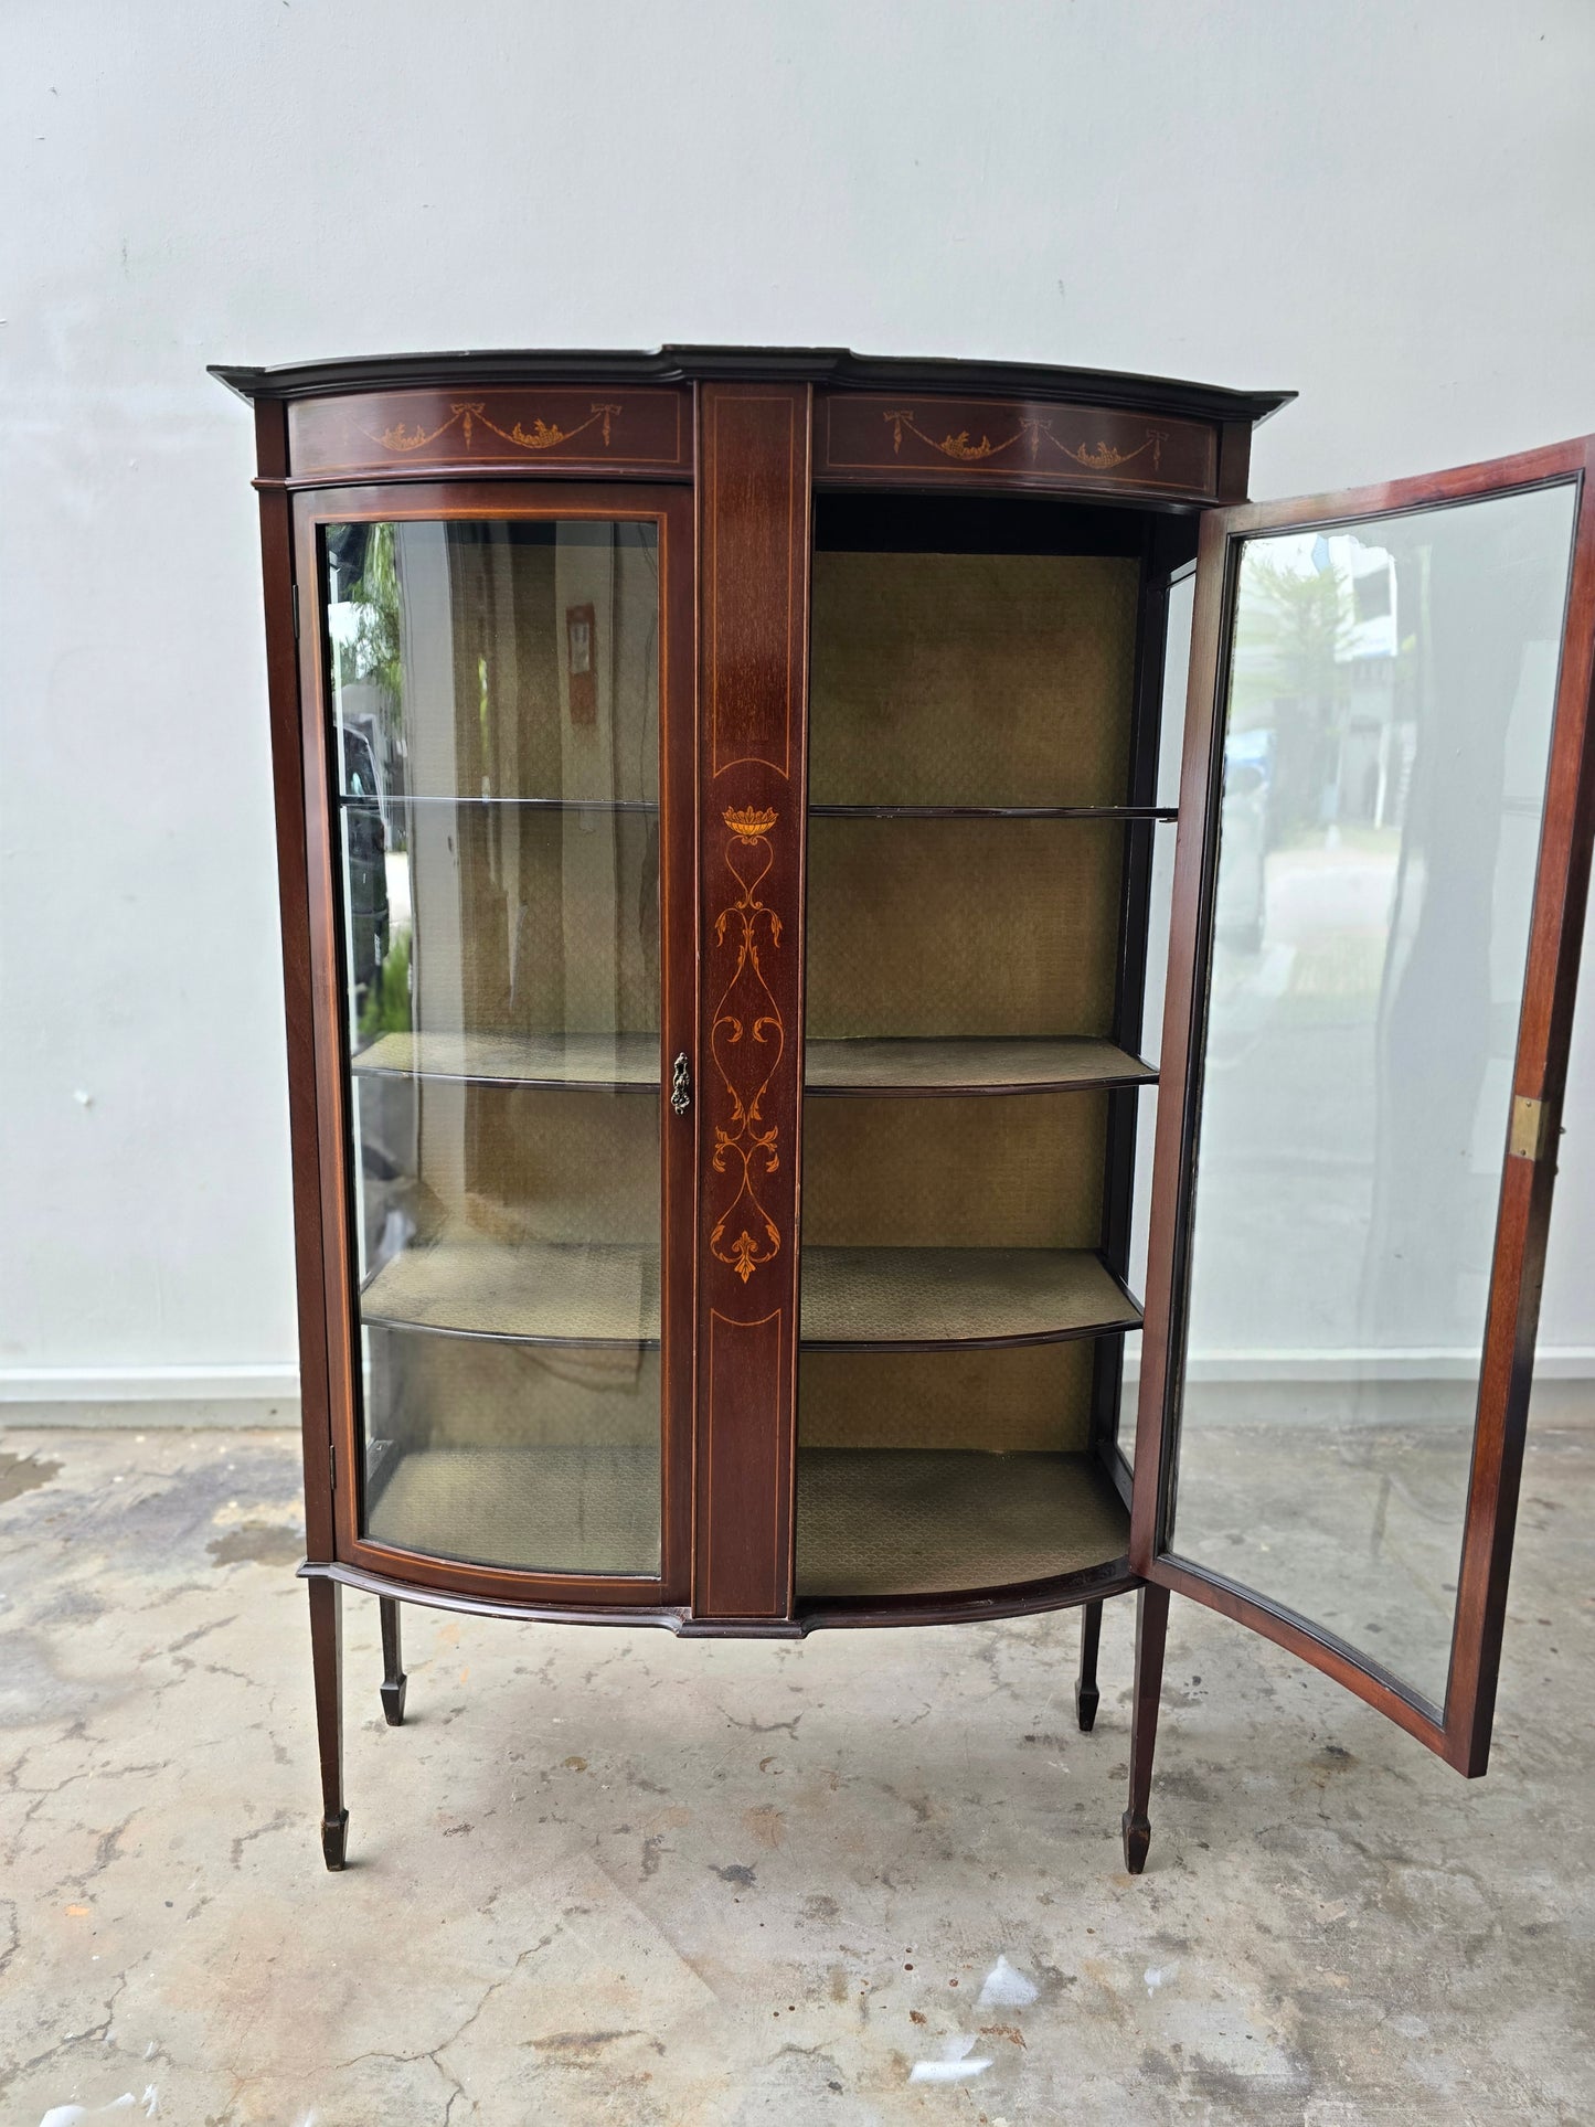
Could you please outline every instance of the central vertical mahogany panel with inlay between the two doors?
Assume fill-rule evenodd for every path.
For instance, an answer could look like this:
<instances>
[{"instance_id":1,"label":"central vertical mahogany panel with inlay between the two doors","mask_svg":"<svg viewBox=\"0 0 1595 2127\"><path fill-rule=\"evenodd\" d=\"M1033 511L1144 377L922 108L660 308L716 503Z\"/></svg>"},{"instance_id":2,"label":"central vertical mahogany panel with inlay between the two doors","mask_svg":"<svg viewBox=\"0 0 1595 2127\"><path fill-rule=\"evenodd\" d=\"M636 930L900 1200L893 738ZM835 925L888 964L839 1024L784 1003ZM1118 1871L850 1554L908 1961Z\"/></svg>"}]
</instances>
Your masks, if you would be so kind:
<instances>
[{"instance_id":1,"label":"central vertical mahogany panel with inlay between the two doors","mask_svg":"<svg viewBox=\"0 0 1595 2127\"><path fill-rule=\"evenodd\" d=\"M810 425L702 387L693 1610L749 1619L793 1602Z\"/></svg>"}]
</instances>

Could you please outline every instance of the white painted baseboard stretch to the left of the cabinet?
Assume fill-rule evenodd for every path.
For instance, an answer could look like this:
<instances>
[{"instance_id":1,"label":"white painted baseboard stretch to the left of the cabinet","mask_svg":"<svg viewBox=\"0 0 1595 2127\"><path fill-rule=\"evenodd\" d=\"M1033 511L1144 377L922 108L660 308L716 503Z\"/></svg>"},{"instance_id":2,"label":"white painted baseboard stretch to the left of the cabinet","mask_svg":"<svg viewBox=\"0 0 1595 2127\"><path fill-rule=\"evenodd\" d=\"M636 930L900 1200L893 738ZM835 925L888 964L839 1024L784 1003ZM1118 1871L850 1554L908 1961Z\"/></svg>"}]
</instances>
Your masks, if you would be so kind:
<instances>
[{"instance_id":1,"label":"white painted baseboard stretch to the left of the cabinet","mask_svg":"<svg viewBox=\"0 0 1595 2127\"><path fill-rule=\"evenodd\" d=\"M0 1427L300 1423L296 1366L0 1368Z\"/></svg>"}]
</instances>

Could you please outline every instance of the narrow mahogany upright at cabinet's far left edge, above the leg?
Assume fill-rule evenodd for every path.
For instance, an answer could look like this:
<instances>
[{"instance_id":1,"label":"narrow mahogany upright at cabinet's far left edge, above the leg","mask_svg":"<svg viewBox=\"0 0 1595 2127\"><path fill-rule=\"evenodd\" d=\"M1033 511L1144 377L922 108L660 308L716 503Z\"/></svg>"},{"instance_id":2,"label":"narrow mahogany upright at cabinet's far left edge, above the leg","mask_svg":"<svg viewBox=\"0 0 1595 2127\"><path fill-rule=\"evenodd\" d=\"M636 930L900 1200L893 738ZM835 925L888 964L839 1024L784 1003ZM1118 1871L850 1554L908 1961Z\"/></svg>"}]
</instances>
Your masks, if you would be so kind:
<instances>
[{"instance_id":1,"label":"narrow mahogany upright at cabinet's far left edge, above the leg","mask_svg":"<svg viewBox=\"0 0 1595 2127\"><path fill-rule=\"evenodd\" d=\"M287 470L283 406L255 406L262 481ZM300 764L300 666L293 619L293 515L281 489L259 489L259 553L266 581L266 687L272 721L276 806L276 893L283 925L287 1017L287 1121L293 1176L293 1278L300 1325L300 1427L304 1434L304 1548L334 1557L332 1400L323 1308L321 1140L317 1117L315 1012L310 998L310 870Z\"/></svg>"}]
</instances>

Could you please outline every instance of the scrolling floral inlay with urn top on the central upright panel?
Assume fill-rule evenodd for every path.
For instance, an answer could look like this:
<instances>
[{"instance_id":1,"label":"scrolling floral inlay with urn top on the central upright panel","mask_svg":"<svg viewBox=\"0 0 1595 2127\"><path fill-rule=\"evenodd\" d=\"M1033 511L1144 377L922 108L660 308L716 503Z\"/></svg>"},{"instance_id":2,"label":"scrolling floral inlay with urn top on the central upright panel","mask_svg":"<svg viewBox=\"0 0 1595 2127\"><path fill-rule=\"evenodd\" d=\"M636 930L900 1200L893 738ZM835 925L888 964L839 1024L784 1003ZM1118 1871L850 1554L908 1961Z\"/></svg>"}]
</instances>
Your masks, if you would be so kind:
<instances>
[{"instance_id":1,"label":"scrolling floral inlay with urn top on the central upright panel","mask_svg":"<svg viewBox=\"0 0 1595 2127\"><path fill-rule=\"evenodd\" d=\"M725 868L742 891L715 921L715 949L723 951L729 936L736 966L708 1029L708 1049L725 1089L721 1106L729 1098L727 1121L715 1123L710 1166L717 1174L734 1176L736 1191L719 1215L708 1244L746 1285L761 1263L780 1255L780 1229L755 1185L755 1168L759 1176L768 1176L780 1166L780 1127L766 1123L761 1102L780 1066L787 1027L759 966L761 932L772 953L780 947L780 917L759 900L759 887L776 861L770 844L776 813L742 806L721 817L732 830Z\"/></svg>"}]
</instances>

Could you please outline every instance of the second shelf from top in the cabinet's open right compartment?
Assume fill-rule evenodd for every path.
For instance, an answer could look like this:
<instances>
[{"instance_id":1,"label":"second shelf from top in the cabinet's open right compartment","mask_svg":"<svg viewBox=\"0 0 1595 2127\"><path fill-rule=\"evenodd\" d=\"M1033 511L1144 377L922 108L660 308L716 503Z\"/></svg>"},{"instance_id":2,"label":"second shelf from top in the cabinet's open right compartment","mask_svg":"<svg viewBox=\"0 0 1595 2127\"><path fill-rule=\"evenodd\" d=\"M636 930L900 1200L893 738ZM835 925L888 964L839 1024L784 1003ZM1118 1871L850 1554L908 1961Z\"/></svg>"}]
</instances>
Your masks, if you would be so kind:
<instances>
[{"instance_id":1,"label":"second shelf from top in the cabinet's open right compartment","mask_svg":"<svg viewBox=\"0 0 1595 2127\"><path fill-rule=\"evenodd\" d=\"M1044 1093L1157 1081L1153 1064L1082 1038L810 1040L804 1068L810 1093Z\"/></svg>"}]
</instances>

